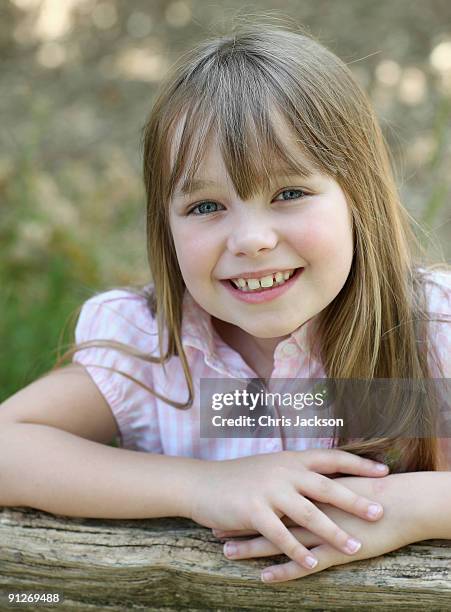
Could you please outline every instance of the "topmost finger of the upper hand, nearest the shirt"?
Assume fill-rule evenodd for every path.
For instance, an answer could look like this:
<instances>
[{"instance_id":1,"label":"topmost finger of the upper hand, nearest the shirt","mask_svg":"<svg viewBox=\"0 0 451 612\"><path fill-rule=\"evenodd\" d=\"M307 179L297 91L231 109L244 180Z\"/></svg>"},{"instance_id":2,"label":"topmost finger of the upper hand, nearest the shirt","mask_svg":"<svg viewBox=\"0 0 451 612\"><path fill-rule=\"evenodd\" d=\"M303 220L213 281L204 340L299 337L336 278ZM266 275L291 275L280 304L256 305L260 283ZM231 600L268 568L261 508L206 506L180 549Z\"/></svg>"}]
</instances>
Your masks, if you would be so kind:
<instances>
[{"instance_id":1,"label":"topmost finger of the upper hand, nearest the shirt","mask_svg":"<svg viewBox=\"0 0 451 612\"><path fill-rule=\"evenodd\" d=\"M298 452L308 453L307 463L305 456L302 458L303 467L308 467L310 470L322 474L341 472L342 474L354 474L355 476L387 476L389 472L388 466L384 463L365 459L365 457L359 457L337 448Z\"/></svg>"}]
</instances>

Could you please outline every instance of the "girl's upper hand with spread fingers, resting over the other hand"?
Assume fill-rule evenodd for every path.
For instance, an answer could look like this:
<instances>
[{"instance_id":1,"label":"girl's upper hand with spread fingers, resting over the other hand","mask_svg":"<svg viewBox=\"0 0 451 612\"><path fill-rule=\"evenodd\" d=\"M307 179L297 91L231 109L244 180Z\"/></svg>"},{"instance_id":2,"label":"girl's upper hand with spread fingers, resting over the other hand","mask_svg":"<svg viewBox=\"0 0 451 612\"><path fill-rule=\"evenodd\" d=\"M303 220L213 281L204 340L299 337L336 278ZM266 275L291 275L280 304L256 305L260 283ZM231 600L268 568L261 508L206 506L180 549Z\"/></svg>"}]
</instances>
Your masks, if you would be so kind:
<instances>
[{"instance_id":1,"label":"girl's upper hand with spread fingers, resting over the other hand","mask_svg":"<svg viewBox=\"0 0 451 612\"><path fill-rule=\"evenodd\" d=\"M345 554L361 544L310 499L337 506L365 520L374 521L383 509L368 497L317 472L383 476L374 461L345 451L282 451L226 461L206 461L193 491L191 518L214 529L255 530L278 551L311 569L317 560L290 533L280 517L329 542ZM310 498L310 499L307 499ZM296 567L298 567L296 565Z\"/></svg>"}]
</instances>

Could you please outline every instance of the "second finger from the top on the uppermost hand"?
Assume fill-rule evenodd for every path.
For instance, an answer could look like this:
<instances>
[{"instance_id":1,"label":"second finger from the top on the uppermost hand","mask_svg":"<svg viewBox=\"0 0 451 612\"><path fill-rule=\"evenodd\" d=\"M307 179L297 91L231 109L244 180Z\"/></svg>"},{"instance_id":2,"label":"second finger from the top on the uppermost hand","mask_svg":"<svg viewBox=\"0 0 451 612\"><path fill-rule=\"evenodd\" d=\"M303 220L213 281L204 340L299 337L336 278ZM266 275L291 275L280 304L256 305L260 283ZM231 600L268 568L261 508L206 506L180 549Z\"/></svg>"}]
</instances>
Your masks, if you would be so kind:
<instances>
[{"instance_id":1,"label":"second finger from the top on the uppermost hand","mask_svg":"<svg viewBox=\"0 0 451 612\"><path fill-rule=\"evenodd\" d=\"M367 521L377 521L384 514L381 504L348 487L315 472L303 472L299 476L297 490L315 501L324 502Z\"/></svg>"}]
</instances>

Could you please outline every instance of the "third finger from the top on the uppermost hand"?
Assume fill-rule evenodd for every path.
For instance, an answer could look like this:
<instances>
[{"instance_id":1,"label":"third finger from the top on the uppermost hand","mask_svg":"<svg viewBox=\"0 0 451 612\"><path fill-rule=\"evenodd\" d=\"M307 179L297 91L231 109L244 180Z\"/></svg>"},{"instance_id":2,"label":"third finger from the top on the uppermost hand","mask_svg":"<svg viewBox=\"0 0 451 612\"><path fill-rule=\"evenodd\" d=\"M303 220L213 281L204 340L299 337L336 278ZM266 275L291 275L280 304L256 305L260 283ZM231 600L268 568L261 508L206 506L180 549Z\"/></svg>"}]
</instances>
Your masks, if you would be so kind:
<instances>
[{"instance_id":1,"label":"third finger from the top on the uppermost hand","mask_svg":"<svg viewBox=\"0 0 451 612\"><path fill-rule=\"evenodd\" d=\"M287 495L283 510L298 525L315 533L325 542L328 542L338 550L353 555L360 550L362 543L334 523L324 512L322 512L309 499L302 496ZM264 534L263 534L264 535Z\"/></svg>"}]
</instances>

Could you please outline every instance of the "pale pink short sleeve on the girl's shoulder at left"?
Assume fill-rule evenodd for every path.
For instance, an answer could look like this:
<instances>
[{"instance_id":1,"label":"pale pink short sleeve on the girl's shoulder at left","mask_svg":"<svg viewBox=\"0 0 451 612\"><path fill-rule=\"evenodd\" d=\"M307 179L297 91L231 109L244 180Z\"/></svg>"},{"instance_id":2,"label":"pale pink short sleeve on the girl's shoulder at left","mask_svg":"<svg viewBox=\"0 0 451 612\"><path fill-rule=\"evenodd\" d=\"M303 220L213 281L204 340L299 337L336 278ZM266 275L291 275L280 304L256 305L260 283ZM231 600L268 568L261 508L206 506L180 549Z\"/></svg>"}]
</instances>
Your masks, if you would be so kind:
<instances>
[{"instance_id":1,"label":"pale pink short sleeve on the girl's shoulder at left","mask_svg":"<svg viewBox=\"0 0 451 612\"><path fill-rule=\"evenodd\" d=\"M156 321L145 297L114 289L88 299L77 321L75 341L79 344L102 340L120 342L132 350L158 355ZM155 365L110 347L79 350L72 361L86 367L108 402L118 425L120 446L162 453L156 397L119 372L101 367L124 372L153 388L152 368Z\"/></svg>"}]
</instances>

